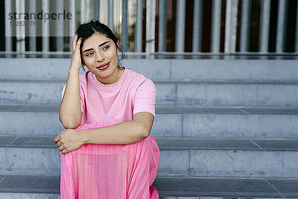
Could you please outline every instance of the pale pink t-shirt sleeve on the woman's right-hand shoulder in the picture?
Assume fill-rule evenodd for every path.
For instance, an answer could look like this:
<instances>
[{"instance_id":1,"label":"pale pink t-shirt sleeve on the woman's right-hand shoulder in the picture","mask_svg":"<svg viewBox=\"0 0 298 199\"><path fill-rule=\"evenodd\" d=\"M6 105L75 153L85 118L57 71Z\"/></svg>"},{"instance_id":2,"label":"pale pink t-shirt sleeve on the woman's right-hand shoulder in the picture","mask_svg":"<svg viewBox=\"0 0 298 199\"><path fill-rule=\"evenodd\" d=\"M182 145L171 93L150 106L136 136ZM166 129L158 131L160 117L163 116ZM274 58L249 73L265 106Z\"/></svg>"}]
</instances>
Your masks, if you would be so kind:
<instances>
[{"instance_id":1,"label":"pale pink t-shirt sleeve on the woman's right-hand shoulder in the picture","mask_svg":"<svg viewBox=\"0 0 298 199\"><path fill-rule=\"evenodd\" d=\"M143 81L136 90L133 114L150 112L155 117L156 88L150 79Z\"/></svg>"}]
</instances>

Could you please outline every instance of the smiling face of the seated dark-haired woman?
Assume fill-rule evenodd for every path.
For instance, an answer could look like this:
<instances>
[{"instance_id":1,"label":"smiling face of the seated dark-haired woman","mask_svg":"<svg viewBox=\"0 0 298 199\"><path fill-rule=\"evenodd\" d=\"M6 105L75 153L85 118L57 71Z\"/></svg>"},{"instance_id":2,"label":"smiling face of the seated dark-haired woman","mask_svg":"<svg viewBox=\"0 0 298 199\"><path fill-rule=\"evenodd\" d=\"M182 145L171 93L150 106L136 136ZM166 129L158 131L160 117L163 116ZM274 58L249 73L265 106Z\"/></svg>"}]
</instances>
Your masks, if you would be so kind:
<instances>
[{"instance_id":1,"label":"smiling face of the seated dark-haired woman","mask_svg":"<svg viewBox=\"0 0 298 199\"><path fill-rule=\"evenodd\" d=\"M81 48L83 65L95 74L97 80L103 84L113 84L119 78L118 55L114 41L103 34L94 33L84 41ZM97 69L101 64L109 63L104 70ZM121 75L120 75L121 76Z\"/></svg>"}]
</instances>

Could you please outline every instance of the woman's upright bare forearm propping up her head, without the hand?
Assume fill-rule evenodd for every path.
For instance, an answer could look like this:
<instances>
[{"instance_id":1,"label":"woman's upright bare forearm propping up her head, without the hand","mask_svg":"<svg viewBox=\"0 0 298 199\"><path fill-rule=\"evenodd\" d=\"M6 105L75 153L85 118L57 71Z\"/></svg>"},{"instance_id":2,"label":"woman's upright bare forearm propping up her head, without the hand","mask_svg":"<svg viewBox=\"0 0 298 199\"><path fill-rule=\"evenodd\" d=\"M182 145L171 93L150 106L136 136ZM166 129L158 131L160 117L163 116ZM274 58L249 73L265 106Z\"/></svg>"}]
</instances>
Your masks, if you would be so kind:
<instances>
[{"instance_id":1,"label":"woman's upright bare forearm propping up her head, without the hand","mask_svg":"<svg viewBox=\"0 0 298 199\"><path fill-rule=\"evenodd\" d=\"M81 122L78 73L79 69L70 68L59 109L59 119L65 128L76 128Z\"/></svg>"}]
</instances>

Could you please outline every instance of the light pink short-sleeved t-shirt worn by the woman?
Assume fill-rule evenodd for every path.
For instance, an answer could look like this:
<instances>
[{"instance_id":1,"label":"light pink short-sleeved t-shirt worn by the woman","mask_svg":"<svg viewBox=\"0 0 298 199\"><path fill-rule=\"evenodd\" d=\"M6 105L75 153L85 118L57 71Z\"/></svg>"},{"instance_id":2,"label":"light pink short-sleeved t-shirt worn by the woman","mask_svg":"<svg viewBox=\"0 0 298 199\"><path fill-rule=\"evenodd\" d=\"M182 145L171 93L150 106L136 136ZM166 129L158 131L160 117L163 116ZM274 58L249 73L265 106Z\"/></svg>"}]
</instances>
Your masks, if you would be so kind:
<instances>
[{"instance_id":1,"label":"light pink short-sleeved t-shirt worn by the woman","mask_svg":"<svg viewBox=\"0 0 298 199\"><path fill-rule=\"evenodd\" d=\"M121 123L133 119L137 112L150 112L155 117L156 89L154 83L125 68L114 84L105 85L87 71L78 76L80 105L84 123ZM66 84L62 90L62 98Z\"/></svg>"}]
</instances>

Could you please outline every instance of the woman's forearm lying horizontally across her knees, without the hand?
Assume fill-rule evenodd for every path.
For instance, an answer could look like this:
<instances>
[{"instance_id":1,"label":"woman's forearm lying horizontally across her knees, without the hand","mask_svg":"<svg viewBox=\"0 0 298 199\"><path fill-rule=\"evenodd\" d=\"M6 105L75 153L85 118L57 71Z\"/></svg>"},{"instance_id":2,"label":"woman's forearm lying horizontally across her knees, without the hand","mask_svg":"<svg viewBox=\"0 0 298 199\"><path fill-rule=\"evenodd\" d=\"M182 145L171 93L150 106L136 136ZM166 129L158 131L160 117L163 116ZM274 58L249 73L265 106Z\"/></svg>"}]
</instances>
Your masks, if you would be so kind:
<instances>
[{"instance_id":1,"label":"woman's forearm lying horizontally across her knees, without the hand","mask_svg":"<svg viewBox=\"0 0 298 199\"><path fill-rule=\"evenodd\" d=\"M84 144L132 144L146 138L143 125L134 120L80 132Z\"/></svg>"}]
</instances>

